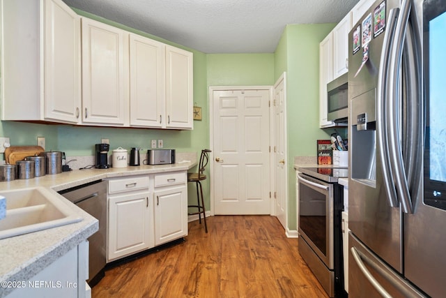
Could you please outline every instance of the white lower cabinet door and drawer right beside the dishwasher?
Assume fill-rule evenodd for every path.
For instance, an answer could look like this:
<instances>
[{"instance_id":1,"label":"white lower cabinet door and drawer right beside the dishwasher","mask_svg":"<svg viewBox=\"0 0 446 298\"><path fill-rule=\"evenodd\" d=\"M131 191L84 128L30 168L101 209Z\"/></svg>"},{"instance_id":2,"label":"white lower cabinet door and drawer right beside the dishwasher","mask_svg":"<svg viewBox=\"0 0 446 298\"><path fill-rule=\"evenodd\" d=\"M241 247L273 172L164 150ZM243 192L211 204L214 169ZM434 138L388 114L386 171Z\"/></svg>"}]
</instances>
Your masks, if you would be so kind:
<instances>
[{"instance_id":1,"label":"white lower cabinet door and drawer right beside the dishwasher","mask_svg":"<svg viewBox=\"0 0 446 298\"><path fill-rule=\"evenodd\" d=\"M107 262L153 247L148 176L109 181Z\"/></svg>"}]
</instances>

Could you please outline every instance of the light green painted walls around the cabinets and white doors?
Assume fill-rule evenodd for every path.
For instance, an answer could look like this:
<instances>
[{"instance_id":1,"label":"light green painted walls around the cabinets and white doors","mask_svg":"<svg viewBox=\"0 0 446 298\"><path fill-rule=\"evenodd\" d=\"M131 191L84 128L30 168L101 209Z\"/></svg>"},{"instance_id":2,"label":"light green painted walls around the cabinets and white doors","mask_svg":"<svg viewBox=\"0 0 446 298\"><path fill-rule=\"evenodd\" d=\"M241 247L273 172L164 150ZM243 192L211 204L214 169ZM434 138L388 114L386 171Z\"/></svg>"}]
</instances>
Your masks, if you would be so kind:
<instances>
[{"instance_id":1,"label":"light green painted walls around the cabinets and white doors","mask_svg":"<svg viewBox=\"0 0 446 298\"><path fill-rule=\"evenodd\" d=\"M106 128L29 124L1 121L0 135L10 137L12 145L34 145L36 137L45 136L46 149L65 151L68 156L92 156L94 144L101 138L110 140L111 149L141 147L148 149L152 139L164 140L165 148L179 152L201 151L210 146L208 87L273 85L287 72L287 129L289 165L289 228L295 229L294 156L316 156L318 138L331 132L318 128L318 44L334 24L289 25L284 30L275 53L265 54L205 54L182 45L137 31L82 10L79 15L111 24L112 26L160 40L194 53L194 105L202 107L203 119L194 121L193 131L169 131L141 128ZM36 98L37 100L37 98ZM196 169L194 169L196 170ZM209 184L203 184L209 208ZM194 188L189 195L195 200Z\"/></svg>"}]
</instances>

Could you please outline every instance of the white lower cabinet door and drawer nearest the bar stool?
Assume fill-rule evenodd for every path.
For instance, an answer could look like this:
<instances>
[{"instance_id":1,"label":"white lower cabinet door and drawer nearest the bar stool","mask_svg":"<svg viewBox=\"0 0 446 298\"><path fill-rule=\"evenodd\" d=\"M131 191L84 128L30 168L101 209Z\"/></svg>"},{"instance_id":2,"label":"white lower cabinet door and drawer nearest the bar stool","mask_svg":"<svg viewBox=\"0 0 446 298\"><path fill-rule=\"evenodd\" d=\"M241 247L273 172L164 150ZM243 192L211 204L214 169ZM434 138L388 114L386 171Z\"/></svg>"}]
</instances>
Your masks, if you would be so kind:
<instances>
[{"instance_id":1,"label":"white lower cabinet door and drawer nearest the bar stool","mask_svg":"<svg viewBox=\"0 0 446 298\"><path fill-rule=\"evenodd\" d=\"M187 236L187 174L155 175L155 246Z\"/></svg>"}]
</instances>

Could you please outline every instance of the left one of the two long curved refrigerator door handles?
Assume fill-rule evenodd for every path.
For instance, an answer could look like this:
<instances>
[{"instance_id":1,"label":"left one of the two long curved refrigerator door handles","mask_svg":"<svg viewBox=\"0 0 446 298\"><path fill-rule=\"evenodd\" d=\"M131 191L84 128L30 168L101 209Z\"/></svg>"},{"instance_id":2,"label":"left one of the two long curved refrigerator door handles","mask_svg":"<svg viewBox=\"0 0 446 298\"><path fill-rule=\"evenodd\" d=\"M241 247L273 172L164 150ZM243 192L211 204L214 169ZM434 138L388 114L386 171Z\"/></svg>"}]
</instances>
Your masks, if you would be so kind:
<instances>
[{"instance_id":1,"label":"left one of the two long curved refrigerator door handles","mask_svg":"<svg viewBox=\"0 0 446 298\"><path fill-rule=\"evenodd\" d=\"M390 207L399 207L397 192L392 184L392 167L390 167L389 143L387 136L387 68L390 60L390 50L394 37L394 29L397 24L399 8L393 8L387 19L387 30L384 35L383 49L381 50L380 66L378 73L378 87L376 99L376 136L378 148L383 166L383 183L389 200Z\"/></svg>"}]
</instances>

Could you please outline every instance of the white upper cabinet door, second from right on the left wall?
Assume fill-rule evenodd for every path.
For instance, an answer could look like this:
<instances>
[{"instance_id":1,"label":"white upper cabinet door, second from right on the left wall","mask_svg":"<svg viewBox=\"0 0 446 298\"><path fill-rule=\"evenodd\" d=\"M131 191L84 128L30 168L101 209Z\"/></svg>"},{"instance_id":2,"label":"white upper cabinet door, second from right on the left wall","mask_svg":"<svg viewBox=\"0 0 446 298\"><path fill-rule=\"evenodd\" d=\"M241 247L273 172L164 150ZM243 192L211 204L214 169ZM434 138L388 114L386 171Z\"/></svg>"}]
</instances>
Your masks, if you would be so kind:
<instances>
[{"instance_id":1,"label":"white upper cabinet door, second from right on the left wall","mask_svg":"<svg viewBox=\"0 0 446 298\"><path fill-rule=\"evenodd\" d=\"M130 33L130 126L163 126L165 48Z\"/></svg>"}]
</instances>

